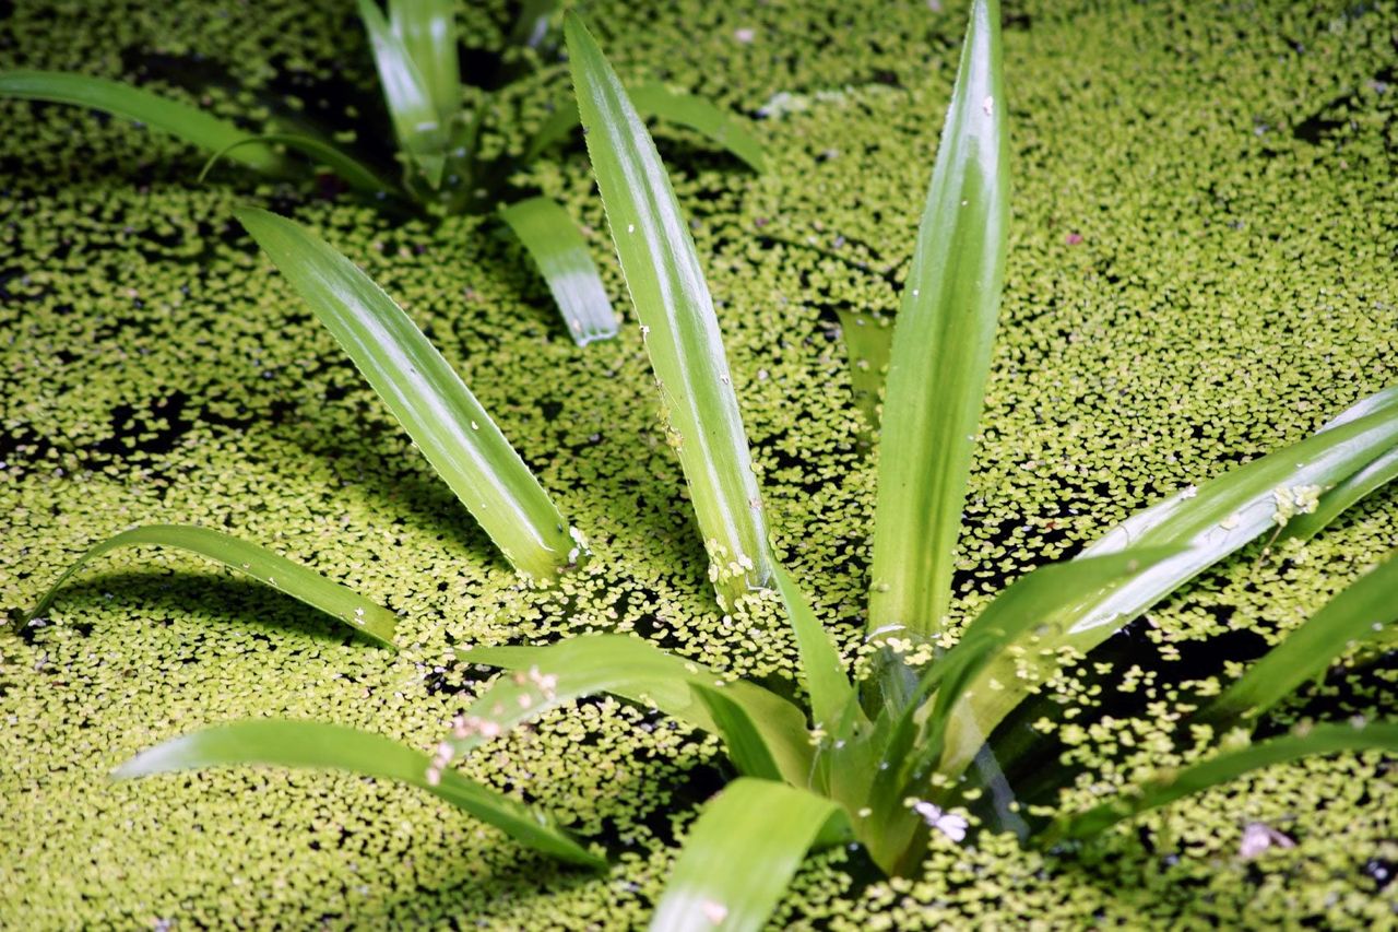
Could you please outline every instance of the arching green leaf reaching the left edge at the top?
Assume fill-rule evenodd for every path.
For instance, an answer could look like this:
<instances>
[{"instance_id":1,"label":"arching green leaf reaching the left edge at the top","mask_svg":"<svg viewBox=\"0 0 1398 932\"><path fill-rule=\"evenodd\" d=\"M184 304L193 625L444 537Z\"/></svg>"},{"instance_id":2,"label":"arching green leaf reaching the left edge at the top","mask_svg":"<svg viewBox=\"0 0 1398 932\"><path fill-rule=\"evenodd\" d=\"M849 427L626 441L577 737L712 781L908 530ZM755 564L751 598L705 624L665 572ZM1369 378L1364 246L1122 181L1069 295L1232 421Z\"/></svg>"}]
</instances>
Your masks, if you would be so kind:
<instances>
[{"instance_id":1,"label":"arching green leaf reaching the left edge at the top","mask_svg":"<svg viewBox=\"0 0 1398 932\"><path fill-rule=\"evenodd\" d=\"M29 101L89 106L115 116L145 123L192 146L219 153L247 137L232 123L204 111L106 78L66 71L0 71L0 95ZM260 172L280 175L285 160L267 144L247 146L229 158Z\"/></svg>"}]
</instances>

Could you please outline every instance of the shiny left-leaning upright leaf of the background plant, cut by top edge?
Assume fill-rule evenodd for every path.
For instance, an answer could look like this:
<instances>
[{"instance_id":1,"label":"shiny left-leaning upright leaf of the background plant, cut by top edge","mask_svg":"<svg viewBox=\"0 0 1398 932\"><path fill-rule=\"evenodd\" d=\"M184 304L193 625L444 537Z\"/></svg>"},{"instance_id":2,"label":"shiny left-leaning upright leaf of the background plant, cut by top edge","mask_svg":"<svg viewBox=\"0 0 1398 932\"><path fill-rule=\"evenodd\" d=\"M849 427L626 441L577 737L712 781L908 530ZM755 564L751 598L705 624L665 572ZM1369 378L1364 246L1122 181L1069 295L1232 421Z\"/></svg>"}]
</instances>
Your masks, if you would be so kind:
<instances>
[{"instance_id":1,"label":"shiny left-leaning upright leaf of the background plant, cut by top edge","mask_svg":"<svg viewBox=\"0 0 1398 932\"><path fill-rule=\"evenodd\" d=\"M447 127L432 99L432 88L375 0L359 0L359 18L369 34L373 64L398 144L422 168L428 183L438 188L446 167Z\"/></svg>"}]
</instances>

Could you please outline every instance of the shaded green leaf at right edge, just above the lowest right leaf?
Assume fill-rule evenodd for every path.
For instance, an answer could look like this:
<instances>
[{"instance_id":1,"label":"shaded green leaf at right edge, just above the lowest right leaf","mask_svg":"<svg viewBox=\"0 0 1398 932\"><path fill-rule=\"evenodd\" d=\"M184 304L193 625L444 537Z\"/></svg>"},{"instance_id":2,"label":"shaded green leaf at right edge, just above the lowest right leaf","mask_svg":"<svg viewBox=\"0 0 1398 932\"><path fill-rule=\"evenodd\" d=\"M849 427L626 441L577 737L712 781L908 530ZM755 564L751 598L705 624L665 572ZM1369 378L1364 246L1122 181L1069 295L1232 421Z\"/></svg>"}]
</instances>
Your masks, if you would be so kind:
<instances>
[{"instance_id":1,"label":"shaded green leaf at right edge, just above the lowest right leaf","mask_svg":"<svg viewBox=\"0 0 1398 932\"><path fill-rule=\"evenodd\" d=\"M1321 676L1345 651L1394 621L1398 621L1398 558L1390 554L1250 666L1205 716L1213 722L1257 718L1306 680Z\"/></svg>"}]
</instances>

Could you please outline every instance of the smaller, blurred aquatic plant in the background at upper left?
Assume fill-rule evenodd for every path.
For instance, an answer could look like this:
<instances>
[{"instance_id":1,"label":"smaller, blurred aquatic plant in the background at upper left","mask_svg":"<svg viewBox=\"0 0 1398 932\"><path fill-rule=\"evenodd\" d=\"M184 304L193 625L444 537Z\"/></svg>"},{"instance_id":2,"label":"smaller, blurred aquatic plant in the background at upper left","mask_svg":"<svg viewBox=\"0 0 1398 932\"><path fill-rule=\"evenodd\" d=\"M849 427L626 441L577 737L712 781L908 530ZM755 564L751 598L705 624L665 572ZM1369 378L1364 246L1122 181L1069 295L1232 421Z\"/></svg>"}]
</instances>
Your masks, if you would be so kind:
<instances>
[{"instance_id":1,"label":"smaller, blurred aquatic plant in the background at upper left","mask_svg":"<svg viewBox=\"0 0 1398 932\"><path fill-rule=\"evenodd\" d=\"M538 62L549 38L556 0L526 3L512 32L521 62ZM0 71L0 97L71 104L137 120L208 151L200 178L229 158L273 178L303 174L284 150L322 165L350 188L375 199L417 203L431 213L495 214L524 245L548 284L569 336L586 346L617 334L617 315L607 298L587 242L568 211L551 197L512 197L506 179L538 160L577 125L577 111L565 101L528 140L523 155L485 158L480 137L492 106L492 92L461 81L457 27L450 0L389 0L387 15L376 0L359 0L373 50L384 104L400 153L400 181L366 165L315 130L288 125L247 133L199 108L108 78L66 71ZM502 74L519 78L519 73ZM643 83L632 94L651 116L700 133L747 165L762 171L762 147L730 113L709 101ZM288 118L280 118L287 122Z\"/></svg>"}]
</instances>

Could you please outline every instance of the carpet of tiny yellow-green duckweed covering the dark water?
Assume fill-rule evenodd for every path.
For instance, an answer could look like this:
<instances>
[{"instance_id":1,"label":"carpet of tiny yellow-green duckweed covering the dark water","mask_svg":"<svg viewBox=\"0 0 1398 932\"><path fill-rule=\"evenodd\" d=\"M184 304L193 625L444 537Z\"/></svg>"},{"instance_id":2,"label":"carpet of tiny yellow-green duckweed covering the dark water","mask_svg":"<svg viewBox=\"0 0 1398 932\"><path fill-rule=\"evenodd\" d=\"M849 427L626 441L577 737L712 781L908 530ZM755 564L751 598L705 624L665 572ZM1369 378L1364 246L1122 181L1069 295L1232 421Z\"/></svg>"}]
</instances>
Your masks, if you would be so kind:
<instances>
[{"instance_id":1,"label":"carpet of tiny yellow-green duckweed covering the dark water","mask_svg":"<svg viewBox=\"0 0 1398 932\"><path fill-rule=\"evenodd\" d=\"M466 14L480 27L468 45L493 45L502 6ZM850 649L872 472L836 315L896 306L917 221L906 192L925 181L938 125L927 113L945 105L962 22L949 1L875 6L591 14L625 34L608 42L624 77L748 113L787 95L758 122L762 178L679 133L658 137L696 218L779 547L819 578L818 610ZM178 69L150 62L203 52L252 88L341 67L372 102L351 8L194 7L17 3L0 59L169 80ZM1158 495L1299 439L1398 368L1392 3L1025 3L1007 17L1015 216L959 610ZM246 109L225 105L229 87L207 91L224 116ZM498 129L534 125L563 87L512 90ZM635 322L577 353L514 248L470 220L400 223L232 169L199 188L197 153L120 122L14 102L0 119L14 127L0 140L0 605L29 603L119 528L201 522L389 605L405 647L366 651L196 560L169 556L179 572L165 574L113 554L50 626L0 640L0 925L642 921L674 833L717 788L716 746L610 700L470 764L603 831L617 855L603 877L352 777L103 778L157 740L242 716L429 747L475 690L478 673L446 659L466 644L619 628L745 676L787 673L794 645L774 602L727 619L713 609ZM517 182L603 230L576 147ZM236 231L231 209L247 202L333 236L403 298L587 532L586 574L558 593L517 586ZM624 306L604 239L591 245ZM1303 547L1250 550L1109 642L1109 677L1102 658L1057 677L1026 725L1081 768L1067 800L1187 758L1165 711L1216 689L1201 658L1220 651L1201 649L1206 638L1226 647L1218 668L1260 654L1398 543L1395 507L1380 493ZM1391 716L1392 679L1381 665L1341 670L1274 719ZM1307 761L1151 814L1076 859L1046 861L1008 835L938 838L923 879L867 887L857 856L832 852L808 863L777 924L1392 922L1394 781L1376 756ZM1244 862L1254 820L1297 847Z\"/></svg>"}]
</instances>

